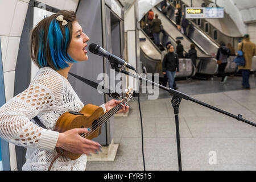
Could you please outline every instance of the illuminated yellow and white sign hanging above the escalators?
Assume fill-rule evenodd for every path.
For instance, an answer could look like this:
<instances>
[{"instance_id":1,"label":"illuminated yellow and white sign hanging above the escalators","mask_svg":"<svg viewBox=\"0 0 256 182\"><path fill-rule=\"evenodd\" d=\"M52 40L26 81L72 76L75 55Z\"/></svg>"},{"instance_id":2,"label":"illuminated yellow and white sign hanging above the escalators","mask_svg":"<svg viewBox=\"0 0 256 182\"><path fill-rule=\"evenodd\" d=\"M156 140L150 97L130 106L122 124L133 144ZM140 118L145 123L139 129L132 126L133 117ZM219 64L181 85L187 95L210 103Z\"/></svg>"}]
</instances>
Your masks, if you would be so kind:
<instances>
[{"instance_id":1,"label":"illuminated yellow and white sign hanging above the escalators","mask_svg":"<svg viewBox=\"0 0 256 182\"><path fill-rule=\"evenodd\" d=\"M223 7L186 7L185 12L188 19L224 18Z\"/></svg>"}]
</instances>

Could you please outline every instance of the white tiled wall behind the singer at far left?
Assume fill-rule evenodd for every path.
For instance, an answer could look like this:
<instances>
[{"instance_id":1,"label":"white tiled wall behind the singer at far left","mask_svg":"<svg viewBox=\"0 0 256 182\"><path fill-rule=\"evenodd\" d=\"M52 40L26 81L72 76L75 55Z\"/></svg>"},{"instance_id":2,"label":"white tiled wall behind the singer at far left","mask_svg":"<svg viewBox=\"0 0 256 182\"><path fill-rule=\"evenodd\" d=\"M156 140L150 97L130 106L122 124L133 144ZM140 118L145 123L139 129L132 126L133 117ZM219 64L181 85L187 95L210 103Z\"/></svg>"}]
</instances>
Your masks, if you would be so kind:
<instances>
[{"instance_id":1,"label":"white tiled wall behind the singer at far left","mask_svg":"<svg viewBox=\"0 0 256 182\"><path fill-rule=\"evenodd\" d=\"M0 0L0 39L6 102L14 97L14 78L20 36L30 0ZM76 11L79 0L38 0L60 10ZM15 170L15 147L10 143L11 170Z\"/></svg>"}]
</instances>

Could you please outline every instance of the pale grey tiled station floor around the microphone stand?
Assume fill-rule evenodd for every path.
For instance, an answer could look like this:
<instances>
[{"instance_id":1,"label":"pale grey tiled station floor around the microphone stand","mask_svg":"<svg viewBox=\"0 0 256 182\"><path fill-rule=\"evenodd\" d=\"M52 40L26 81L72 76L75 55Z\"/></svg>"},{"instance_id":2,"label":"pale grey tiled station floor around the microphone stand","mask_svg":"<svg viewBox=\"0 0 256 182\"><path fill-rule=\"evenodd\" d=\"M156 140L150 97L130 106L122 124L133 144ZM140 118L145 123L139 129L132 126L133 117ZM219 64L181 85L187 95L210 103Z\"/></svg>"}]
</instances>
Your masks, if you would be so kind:
<instances>
[{"instance_id":1,"label":"pale grey tiled station floor around the microphone stand","mask_svg":"<svg viewBox=\"0 0 256 182\"><path fill-rule=\"evenodd\" d=\"M229 85L220 85L219 78L177 84L180 92L256 123L255 78L251 90L241 90L240 79L229 78ZM141 99L146 170L177 170L174 111L168 93L159 94L158 100ZM138 101L129 105L129 116L113 121L115 161L87 162L86 170L143 170ZM256 170L256 127L185 100L179 123L183 170Z\"/></svg>"}]
</instances>

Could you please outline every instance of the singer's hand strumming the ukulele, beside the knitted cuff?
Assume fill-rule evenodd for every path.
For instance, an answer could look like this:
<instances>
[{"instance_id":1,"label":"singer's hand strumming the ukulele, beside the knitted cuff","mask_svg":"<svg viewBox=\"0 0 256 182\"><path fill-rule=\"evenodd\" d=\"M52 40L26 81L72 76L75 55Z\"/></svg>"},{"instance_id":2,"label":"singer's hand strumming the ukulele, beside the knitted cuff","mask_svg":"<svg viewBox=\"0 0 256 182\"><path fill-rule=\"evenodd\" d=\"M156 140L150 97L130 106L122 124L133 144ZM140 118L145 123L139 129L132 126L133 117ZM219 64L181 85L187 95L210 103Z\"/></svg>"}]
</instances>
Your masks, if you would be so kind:
<instances>
[{"instance_id":1,"label":"singer's hand strumming the ukulele, beside the knitted cuff","mask_svg":"<svg viewBox=\"0 0 256 182\"><path fill-rule=\"evenodd\" d=\"M88 133L87 128L72 129L59 133L56 147L63 148L64 150L70 151L75 154L86 154L97 153L101 151L100 143L94 142L89 139L85 139L80 136L81 133Z\"/></svg>"}]
</instances>

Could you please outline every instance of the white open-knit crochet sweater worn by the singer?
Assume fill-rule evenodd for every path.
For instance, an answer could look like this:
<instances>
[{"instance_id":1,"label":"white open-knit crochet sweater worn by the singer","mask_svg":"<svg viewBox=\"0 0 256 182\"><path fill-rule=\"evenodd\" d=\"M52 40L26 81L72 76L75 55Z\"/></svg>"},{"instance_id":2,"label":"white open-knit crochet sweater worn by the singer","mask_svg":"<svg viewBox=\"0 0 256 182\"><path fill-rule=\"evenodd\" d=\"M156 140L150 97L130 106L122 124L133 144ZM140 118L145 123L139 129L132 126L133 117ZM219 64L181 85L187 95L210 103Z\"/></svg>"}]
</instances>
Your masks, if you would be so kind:
<instances>
[{"instance_id":1,"label":"white open-knit crochet sweater worn by the singer","mask_svg":"<svg viewBox=\"0 0 256 182\"><path fill-rule=\"evenodd\" d=\"M50 67L39 69L24 92L0 108L0 137L27 147L23 170L47 170L57 154L59 133L54 130L57 119L67 111L80 111L80 101L68 80ZM105 104L101 107L106 111ZM38 116L47 127L39 127ZM51 170L85 170L86 155L71 160L60 156Z\"/></svg>"}]
</instances>

